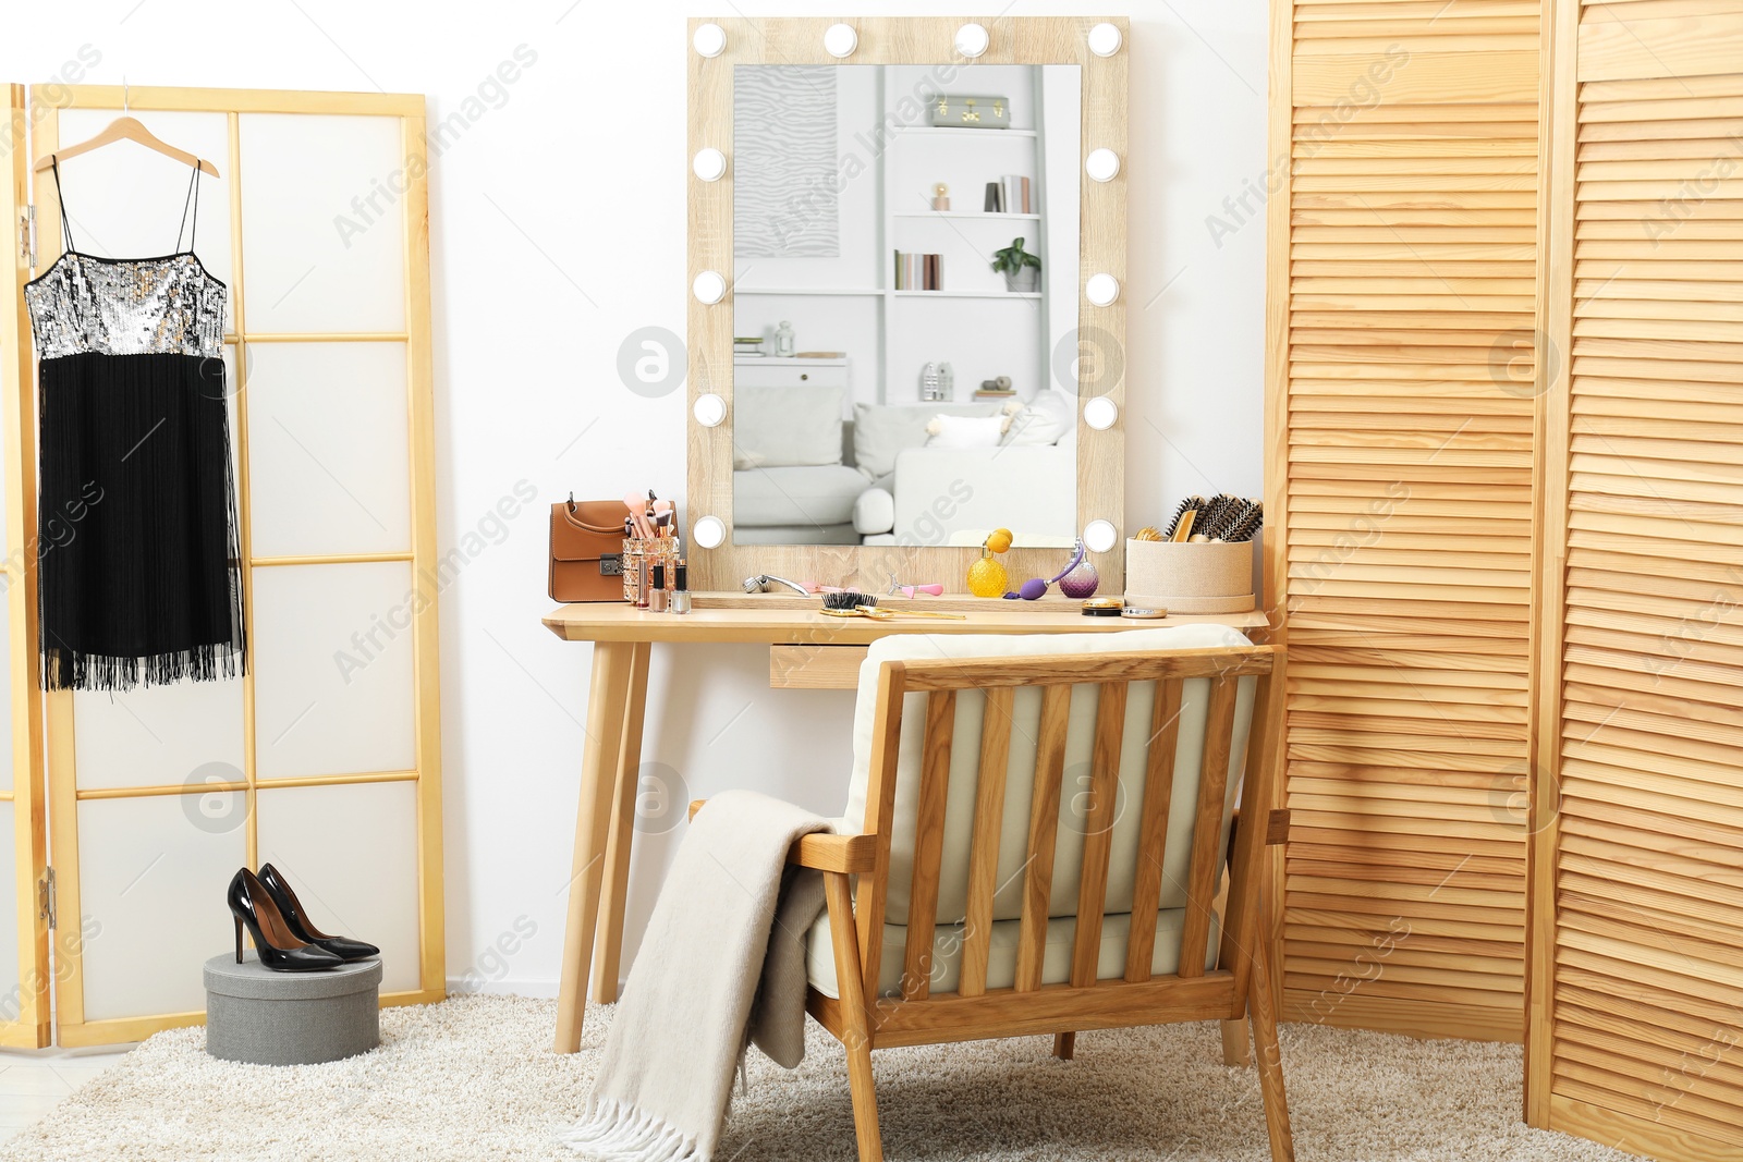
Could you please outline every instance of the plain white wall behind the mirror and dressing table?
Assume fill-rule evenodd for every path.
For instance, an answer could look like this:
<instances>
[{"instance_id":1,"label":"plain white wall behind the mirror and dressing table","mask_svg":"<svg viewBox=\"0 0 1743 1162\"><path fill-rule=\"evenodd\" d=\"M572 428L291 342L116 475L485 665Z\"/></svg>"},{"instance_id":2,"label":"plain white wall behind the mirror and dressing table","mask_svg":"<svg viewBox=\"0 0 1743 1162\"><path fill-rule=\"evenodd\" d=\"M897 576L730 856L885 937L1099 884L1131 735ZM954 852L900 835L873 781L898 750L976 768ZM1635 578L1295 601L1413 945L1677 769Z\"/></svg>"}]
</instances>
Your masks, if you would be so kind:
<instances>
[{"instance_id":1,"label":"plain white wall behind the mirror and dressing table","mask_svg":"<svg viewBox=\"0 0 1743 1162\"><path fill-rule=\"evenodd\" d=\"M800 0L756 14L810 14ZM556 500L683 490L683 392L619 380L619 347L685 319L688 14L713 3L549 0L300 5L136 0L9 12L0 80L85 78L425 92L465 131L432 169L437 497L446 551L526 477ZM933 3L861 0L861 14ZM1126 12L1131 35L1128 498L1133 526L1189 491L1260 490L1264 226L1234 206L1265 166L1265 7L1020 2L1009 16ZM516 45L537 63L495 78ZM70 73L68 73L70 75ZM150 118L146 118L150 120ZM1218 214L1218 247L1206 218ZM1121 354L1112 354L1121 357ZM682 361L680 361L682 366ZM587 659L547 611L546 528L523 512L443 594L448 972L551 993L563 946ZM837 810L851 695L772 692L767 657L657 650L647 761L678 794L751 786ZM640 840L631 946L676 833ZM209 906L220 906L214 883ZM359 885L368 890L368 885ZM504 951L509 949L509 951Z\"/></svg>"}]
</instances>

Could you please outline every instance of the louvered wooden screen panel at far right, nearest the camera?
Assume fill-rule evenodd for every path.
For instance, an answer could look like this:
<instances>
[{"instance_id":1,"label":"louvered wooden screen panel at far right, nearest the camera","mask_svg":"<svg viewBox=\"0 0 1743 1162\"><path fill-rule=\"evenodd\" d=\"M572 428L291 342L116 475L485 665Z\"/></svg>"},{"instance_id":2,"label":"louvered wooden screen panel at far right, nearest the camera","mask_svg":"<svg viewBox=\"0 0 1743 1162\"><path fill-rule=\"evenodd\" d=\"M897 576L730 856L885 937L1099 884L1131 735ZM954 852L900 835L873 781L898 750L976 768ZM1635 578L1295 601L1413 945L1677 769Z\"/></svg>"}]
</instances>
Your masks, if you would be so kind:
<instances>
[{"instance_id":1,"label":"louvered wooden screen panel at far right, nearest the camera","mask_svg":"<svg viewBox=\"0 0 1743 1162\"><path fill-rule=\"evenodd\" d=\"M1576 12L1567 14L1572 24ZM1743 1157L1743 7L1577 10L1532 1120ZM1562 45L1556 49L1562 51ZM1562 101L1556 96L1556 101ZM1562 481L1560 477L1565 477ZM1565 484L1565 486L1563 486ZM1558 789L1558 793L1555 793Z\"/></svg>"}]
</instances>

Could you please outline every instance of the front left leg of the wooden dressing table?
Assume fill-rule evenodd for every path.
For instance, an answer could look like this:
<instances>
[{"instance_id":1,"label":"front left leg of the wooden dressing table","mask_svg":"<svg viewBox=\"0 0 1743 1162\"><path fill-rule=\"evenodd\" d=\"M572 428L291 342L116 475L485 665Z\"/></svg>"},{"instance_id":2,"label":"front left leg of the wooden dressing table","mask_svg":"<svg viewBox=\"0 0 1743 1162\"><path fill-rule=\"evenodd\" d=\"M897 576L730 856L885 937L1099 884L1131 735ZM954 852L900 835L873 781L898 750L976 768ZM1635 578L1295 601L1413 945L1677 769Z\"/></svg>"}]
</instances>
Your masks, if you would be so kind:
<instances>
[{"instance_id":1,"label":"front left leg of the wooden dressing table","mask_svg":"<svg viewBox=\"0 0 1743 1162\"><path fill-rule=\"evenodd\" d=\"M556 1052L580 1049L587 1019L587 963L600 911L605 843L617 789L617 760L634 669L634 643L593 645L593 685L587 693L587 739L580 760L580 805L575 810L575 855L568 878L568 918L563 927L563 977L556 1002Z\"/></svg>"}]
</instances>

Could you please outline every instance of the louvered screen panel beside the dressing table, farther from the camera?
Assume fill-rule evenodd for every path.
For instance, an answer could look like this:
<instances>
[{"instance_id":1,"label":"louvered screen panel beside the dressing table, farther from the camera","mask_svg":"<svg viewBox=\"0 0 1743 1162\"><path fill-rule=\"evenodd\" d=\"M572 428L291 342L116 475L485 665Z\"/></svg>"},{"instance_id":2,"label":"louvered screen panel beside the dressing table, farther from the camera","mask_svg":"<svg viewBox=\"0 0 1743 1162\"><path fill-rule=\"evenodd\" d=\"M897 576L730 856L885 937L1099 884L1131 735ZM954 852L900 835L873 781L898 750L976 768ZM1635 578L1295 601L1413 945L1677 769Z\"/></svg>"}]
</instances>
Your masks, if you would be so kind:
<instances>
[{"instance_id":1,"label":"louvered screen panel beside the dressing table, farther from the camera","mask_svg":"<svg viewBox=\"0 0 1743 1162\"><path fill-rule=\"evenodd\" d=\"M1539 5L1292 16L1285 1014L1518 1040Z\"/></svg>"}]
</instances>

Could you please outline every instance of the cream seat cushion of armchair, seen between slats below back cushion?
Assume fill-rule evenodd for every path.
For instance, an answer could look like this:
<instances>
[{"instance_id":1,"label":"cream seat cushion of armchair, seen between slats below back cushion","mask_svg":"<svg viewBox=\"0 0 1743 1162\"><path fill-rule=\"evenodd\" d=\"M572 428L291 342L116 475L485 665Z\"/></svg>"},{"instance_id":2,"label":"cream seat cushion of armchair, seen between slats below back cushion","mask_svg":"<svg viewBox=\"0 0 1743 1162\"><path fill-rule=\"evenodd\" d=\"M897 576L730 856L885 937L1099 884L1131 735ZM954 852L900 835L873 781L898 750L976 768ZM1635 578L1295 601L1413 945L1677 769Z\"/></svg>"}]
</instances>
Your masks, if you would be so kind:
<instances>
[{"instance_id":1,"label":"cream seat cushion of armchair, seen between slats below back cushion","mask_svg":"<svg viewBox=\"0 0 1743 1162\"><path fill-rule=\"evenodd\" d=\"M1168 908L1156 913L1156 955L1150 970L1175 972L1180 967L1180 925L1185 908ZM987 949L987 988L1011 988L1016 983L1016 941L1021 920L995 920ZM1131 916L1102 918L1102 955L1096 962L1096 979L1110 981L1126 974L1126 936ZM962 979L962 925L938 925L933 937L933 993L953 993ZM1048 953L1041 960L1041 983L1063 984L1072 977L1072 942L1077 939L1077 918L1063 916L1048 922ZM1220 916L1211 915L1210 955L1204 967L1217 967L1217 946L1222 941ZM884 925L884 962L878 967L878 995L901 995L901 963L908 948L908 929L901 923ZM810 986L824 996L840 996L835 979L835 953L830 944L830 916L824 913L805 934L805 974Z\"/></svg>"}]
</instances>

